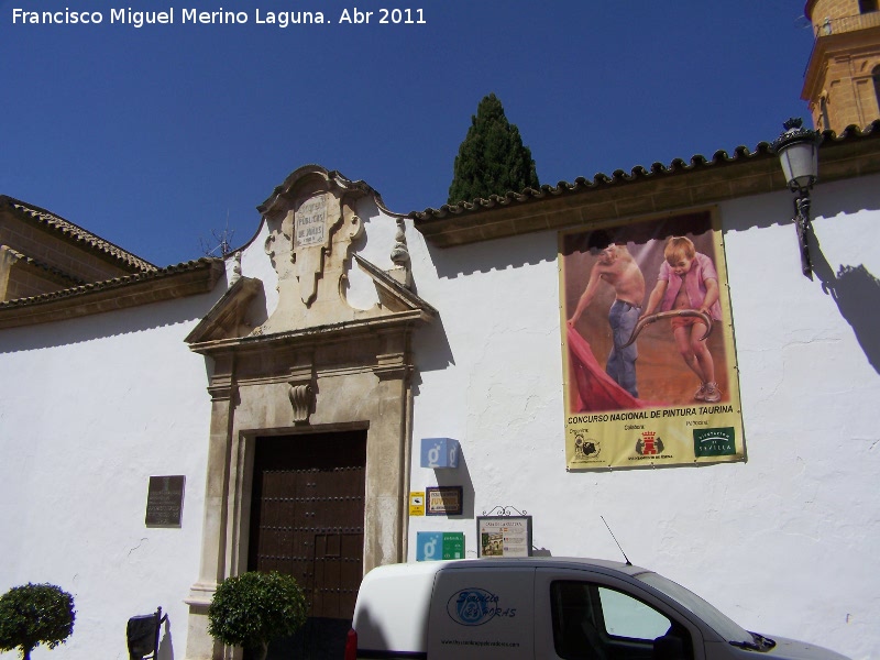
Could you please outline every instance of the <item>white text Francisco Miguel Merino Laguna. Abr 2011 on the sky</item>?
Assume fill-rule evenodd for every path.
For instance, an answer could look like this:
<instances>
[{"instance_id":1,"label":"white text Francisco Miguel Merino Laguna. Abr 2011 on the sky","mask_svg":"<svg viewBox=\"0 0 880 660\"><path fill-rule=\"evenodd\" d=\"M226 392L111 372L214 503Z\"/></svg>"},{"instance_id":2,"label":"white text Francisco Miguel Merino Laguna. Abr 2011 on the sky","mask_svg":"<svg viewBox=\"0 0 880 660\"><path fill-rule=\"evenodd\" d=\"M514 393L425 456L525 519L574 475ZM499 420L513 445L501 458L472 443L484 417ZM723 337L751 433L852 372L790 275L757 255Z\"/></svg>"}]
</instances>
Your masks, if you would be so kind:
<instances>
[{"instance_id":1,"label":"white text Francisco Miguel Merino Laguna. Abr 2011 on the sky","mask_svg":"<svg viewBox=\"0 0 880 660\"><path fill-rule=\"evenodd\" d=\"M222 7L216 11L200 11L198 9L168 8L164 11L136 11L132 8L111 9L109 23L123 24L132 28L146 25L173 25L179 19L180 24L201 25L241 25L251 22L251 14L246 11L227 11ZM37 25L97 25L105 22L101 11L29 11L21 8L12 10L12 24ZM263 11L253 10L253 22L258 25L276 25L287 28L298 24L327 24L331 20L320 11ZM364 25L425 25L425 11L422 9L384 9L362 11L356 7L343 9L336 21L337 23Z\"/></svg>"}]
</instances>

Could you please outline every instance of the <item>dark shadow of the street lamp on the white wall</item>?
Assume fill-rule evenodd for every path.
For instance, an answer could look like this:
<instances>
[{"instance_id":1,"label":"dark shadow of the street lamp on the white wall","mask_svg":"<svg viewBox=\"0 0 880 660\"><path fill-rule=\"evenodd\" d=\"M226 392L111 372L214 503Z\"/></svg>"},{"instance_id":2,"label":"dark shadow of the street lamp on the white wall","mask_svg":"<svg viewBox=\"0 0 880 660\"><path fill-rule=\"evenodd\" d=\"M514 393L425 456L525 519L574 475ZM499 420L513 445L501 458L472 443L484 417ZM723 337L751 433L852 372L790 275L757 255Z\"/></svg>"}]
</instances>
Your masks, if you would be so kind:
<instances>
[{"instance_id":1,"label":"dark shadow of the street lamp on the white wall","mask_svg":"<svg viewBox=\"0 0 880 660\"><path fill-rule=\"evenodd\" d=\"M868 362L880 373L880 279L862 264L840 265L835 273L815 234L810 237L810 256L822 290L834 298L840 316L856 333Z\"/></svg>"}]
</instances>

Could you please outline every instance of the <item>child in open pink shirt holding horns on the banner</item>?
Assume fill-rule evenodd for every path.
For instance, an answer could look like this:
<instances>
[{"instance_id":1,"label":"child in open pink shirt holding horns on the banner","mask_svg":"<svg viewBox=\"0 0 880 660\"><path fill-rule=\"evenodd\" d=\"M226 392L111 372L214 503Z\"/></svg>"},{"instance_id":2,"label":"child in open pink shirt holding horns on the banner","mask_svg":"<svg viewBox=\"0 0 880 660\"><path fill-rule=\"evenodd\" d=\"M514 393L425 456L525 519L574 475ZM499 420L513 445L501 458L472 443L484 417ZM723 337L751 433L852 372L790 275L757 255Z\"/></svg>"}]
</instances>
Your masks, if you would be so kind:
<instances>
[{"instance_id":1,"label":"child in open pink shirt holding horns on the banner","mask_svg":"<svg viewBox=\"0 0 880 660\"><path fill-rule=\"evenodd\" d=\"M696 309L713 320L719 320L718 275L712 260L698 253L686 237L670 237L663 249L663 257L657 286L648 298L642 317L653 314L662 301L660 311ZM707 330L705 323L696 317L681 317L673 318L671 324L675 345L684 363L700 378L694 399L711 404L721 400L722 394L715 382L715 362L706 342L700 341Z\"/></svg>"}]
</instances>

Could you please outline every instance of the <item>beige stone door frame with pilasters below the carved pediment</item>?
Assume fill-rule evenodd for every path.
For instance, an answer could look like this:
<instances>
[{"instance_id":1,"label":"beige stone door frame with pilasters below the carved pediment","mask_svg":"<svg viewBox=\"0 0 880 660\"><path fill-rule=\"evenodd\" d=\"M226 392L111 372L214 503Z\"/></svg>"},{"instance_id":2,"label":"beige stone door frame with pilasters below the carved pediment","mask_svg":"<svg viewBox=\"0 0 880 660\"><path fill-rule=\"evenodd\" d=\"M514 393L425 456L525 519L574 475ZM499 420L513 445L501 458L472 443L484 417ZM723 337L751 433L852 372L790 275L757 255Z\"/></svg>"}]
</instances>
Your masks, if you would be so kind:
<instances>
[{"instance_id":1,"label":"beige stone door frame with pilasters below the carved pediment","mask_svg":"<svg viewBox=\"0 0 880 660\"><path fill-rule=\"evenodd\" d=\"M246 570L258 436L366 429L364 572L406 558L411 447L410 310L277 336L190 344L212 358L201 565L186 600L187 660L233 658L208 636L217 584Z\"/></svg>"}]
</instances>

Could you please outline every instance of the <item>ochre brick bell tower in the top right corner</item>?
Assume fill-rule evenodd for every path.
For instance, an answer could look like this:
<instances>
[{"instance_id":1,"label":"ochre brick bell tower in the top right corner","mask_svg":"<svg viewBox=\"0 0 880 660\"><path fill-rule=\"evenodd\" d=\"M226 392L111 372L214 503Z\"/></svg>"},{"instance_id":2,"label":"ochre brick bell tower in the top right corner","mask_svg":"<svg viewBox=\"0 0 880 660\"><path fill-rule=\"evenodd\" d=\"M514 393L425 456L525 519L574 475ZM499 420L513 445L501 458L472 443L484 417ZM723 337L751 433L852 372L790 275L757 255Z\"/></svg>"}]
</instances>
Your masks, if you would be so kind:
<instances>
[{"instance_id":1,"label":"ochre brick bell tower in the top right corner","mask_svg":"<svg viewBox=\"0 0 880 660\"><path fill-rule=\"evenodd\" d=\"M807 0L815 42L801 98L816 130L880 119L880 0Z\"/></svg>"}]
</instances>

